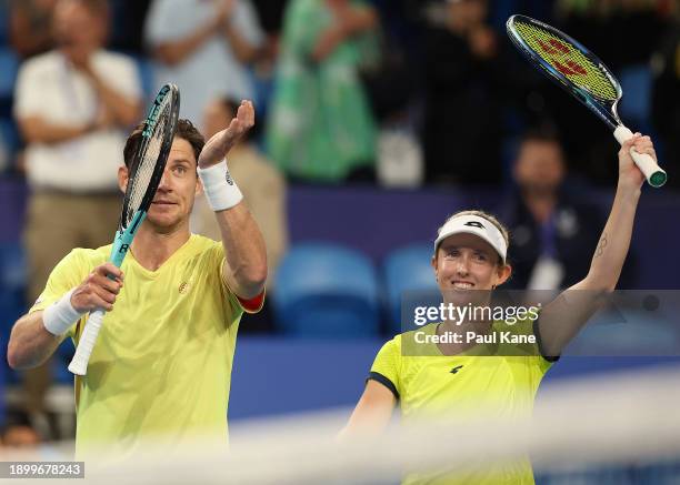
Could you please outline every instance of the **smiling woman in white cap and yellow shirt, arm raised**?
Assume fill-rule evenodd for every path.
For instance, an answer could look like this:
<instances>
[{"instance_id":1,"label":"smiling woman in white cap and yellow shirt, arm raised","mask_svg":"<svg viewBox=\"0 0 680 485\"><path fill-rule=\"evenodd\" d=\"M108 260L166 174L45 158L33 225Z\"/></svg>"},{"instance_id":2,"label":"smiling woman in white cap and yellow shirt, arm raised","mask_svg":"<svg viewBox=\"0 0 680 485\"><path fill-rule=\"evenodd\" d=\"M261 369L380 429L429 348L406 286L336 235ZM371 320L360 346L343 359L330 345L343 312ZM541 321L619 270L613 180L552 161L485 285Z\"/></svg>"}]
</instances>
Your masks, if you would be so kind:
<instances>
[{"instance_id":1,"label":"smiling woman in white cap and yellow shirt, arm raised","mask_svg":"<svg viewBox=\"0 0 680 485\"><path fill-rule=\"evenodd\" d=\"M397 335L379 351L343 435L382 430L397 405L404 424L443 414L468 417L477 410L484 417L529 417L541 378L554 361L551 356L560 355L601 296L617 286L644 182L631 150L656 159L651 140L639 133L619 151L614 202L583 280L536 313L532 322L447 315L440 323ZM488 305L491 293L512 271L506 259L509 241L508 231L490 214L462 211L449 218L439 230L431 261L444 304ZM507 330L531 342L510 350L497 345L494 335ZM467 339L470 332L490 337L489 342ZM480 457L469 468L410 473L404 484L533 484L526 458L486 464Z\"/></svg>"}]
</instances>

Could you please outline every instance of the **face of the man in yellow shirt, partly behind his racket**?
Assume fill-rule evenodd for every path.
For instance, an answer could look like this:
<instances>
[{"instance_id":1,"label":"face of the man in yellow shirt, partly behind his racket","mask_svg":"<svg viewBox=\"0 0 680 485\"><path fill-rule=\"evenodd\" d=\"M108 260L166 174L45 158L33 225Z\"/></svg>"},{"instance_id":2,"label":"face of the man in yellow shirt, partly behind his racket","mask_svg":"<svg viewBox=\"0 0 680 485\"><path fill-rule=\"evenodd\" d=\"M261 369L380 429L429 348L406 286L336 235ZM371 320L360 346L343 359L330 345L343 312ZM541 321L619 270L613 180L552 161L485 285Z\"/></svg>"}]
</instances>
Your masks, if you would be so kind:
<instances>
[{"instance_id":1,"label":"face of the man in yellow shirt, partly behind his racket","mask_svg":"<svg viewBox=\"0 0 680 485\"><path fill-rule=\"evenodd\" d=\"M163 176L147 213L146 222L151 224L156 232L171 233L183 224L189 224L193 200L201 190L196 168L197 160L191 143L174 138ZM121 169L120 176L120 185L124 190L128 183L127 169Z\"/></svg>"}]
</instances>

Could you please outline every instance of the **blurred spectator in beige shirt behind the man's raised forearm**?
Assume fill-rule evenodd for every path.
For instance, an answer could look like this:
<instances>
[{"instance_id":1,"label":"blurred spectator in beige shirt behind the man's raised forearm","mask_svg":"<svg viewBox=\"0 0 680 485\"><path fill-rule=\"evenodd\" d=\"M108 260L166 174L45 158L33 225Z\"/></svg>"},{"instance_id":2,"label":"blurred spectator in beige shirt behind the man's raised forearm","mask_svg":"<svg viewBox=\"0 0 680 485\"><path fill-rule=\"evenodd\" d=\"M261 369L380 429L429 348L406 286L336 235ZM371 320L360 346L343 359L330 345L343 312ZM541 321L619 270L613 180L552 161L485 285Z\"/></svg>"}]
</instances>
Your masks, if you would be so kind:
<instances>
[{"instance_id":1,"label":"blurred spectator in beige shirt behind the man's raised forearm","mask_svg":"<svg viewBox=\"0 0 680 485\"><path fill-rule=\"evenodd\" d=\"M239 102L233 99L216 99L203 115L206 140L226 129L237 113ZM288 246L288 220L286 212L286 181L249 139L241 141L229 152L229 172L239 183L248 209L257 221L264 244L269 266L268 284L274 280L279 261ZM214 213L204 198L197 198L192 214L193 232L221 241Z\"/></svg>"}]
</instances>

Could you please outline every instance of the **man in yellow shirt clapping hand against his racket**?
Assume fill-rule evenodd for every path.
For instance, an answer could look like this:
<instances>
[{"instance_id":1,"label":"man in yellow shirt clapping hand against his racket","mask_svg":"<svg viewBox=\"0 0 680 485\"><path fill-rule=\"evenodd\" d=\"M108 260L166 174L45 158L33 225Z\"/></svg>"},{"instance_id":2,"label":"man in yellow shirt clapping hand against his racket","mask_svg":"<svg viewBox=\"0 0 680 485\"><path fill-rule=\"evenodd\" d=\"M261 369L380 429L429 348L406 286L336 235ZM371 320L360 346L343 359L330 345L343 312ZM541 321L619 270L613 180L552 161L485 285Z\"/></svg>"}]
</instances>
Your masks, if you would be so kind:
<instances>
[{"instance_id":1,"label":"man in yellow shirt clapping hand against his racket","mask_svg":"<svg viewBox=\"0 0 680 485\"><path fill-rule=\"evenodd\" d=\"M73 250L12 329L9 363L28 368L44 362L66 336L78 343L88 312L108 311L88 374L76 380L78 455L92 445L132 452L142 437L170 445L197 435L226 441L239 321L243 311L261 307L267 277L262 236L224 159L253 123L252 104L243 102L230 125L203 145L198 130L180 120L122 267L107 263L110 246ZM128 139L126 166L119 169L123 191L140 140L141 125ZM201 190L221 242L189 231Z\"/></svg>"}]
</instances>

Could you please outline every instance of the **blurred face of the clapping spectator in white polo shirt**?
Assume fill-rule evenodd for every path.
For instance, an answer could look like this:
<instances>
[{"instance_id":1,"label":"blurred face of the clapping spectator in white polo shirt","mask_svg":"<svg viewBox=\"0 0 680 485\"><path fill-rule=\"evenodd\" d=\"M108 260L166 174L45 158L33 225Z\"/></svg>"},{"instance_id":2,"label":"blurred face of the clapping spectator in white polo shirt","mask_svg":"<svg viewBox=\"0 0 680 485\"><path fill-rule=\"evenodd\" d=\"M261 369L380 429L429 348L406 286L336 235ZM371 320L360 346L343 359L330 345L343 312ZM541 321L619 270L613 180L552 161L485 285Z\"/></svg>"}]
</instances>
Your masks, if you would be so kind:
<instances>
[{"instance_id":1,"label":"blurred face of the clapping spectator in white polo shirt","mask_svg":"<svg viewBox=\"0 0 680 485\"><path fill-rule=\"evenodd\" d=\"M76 0L57 3L52 27L60 50L76 64L87 62L104 37L104 20Z\"/></svg>"}]
</instances>

